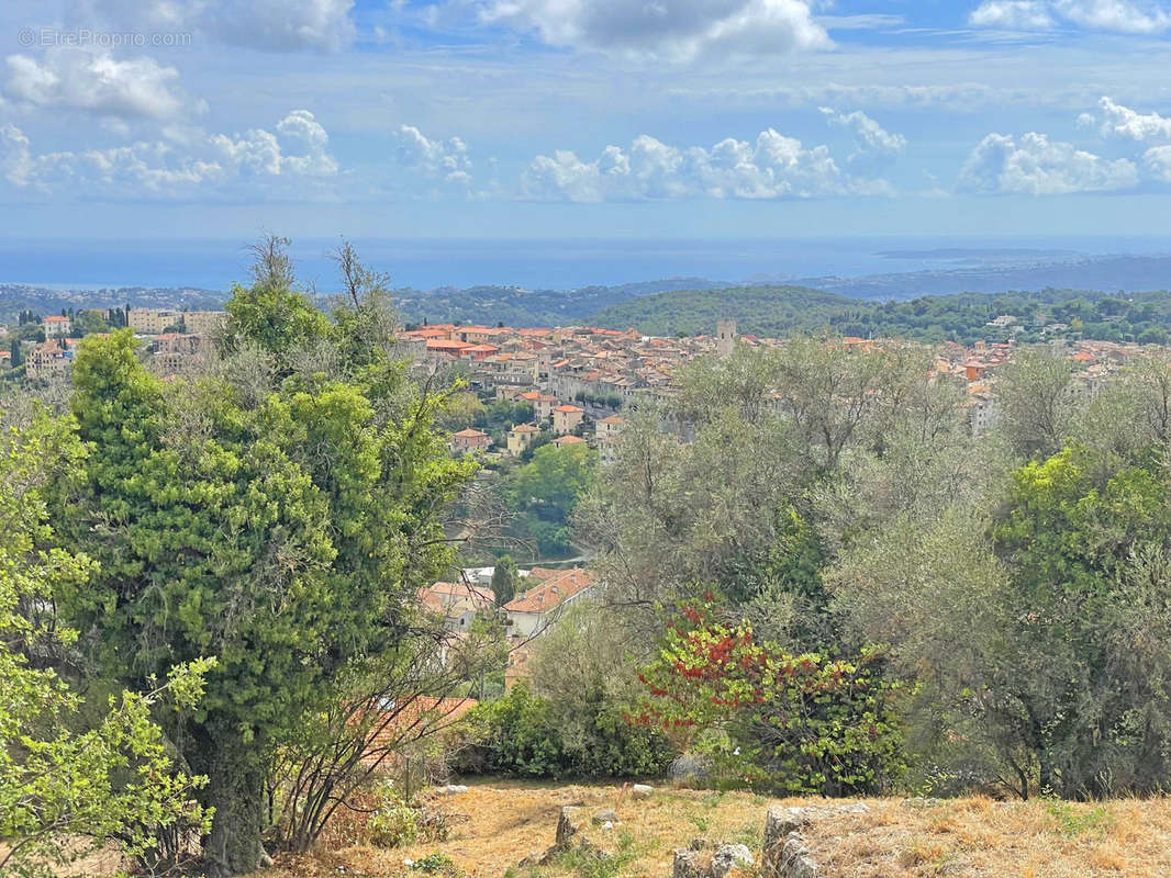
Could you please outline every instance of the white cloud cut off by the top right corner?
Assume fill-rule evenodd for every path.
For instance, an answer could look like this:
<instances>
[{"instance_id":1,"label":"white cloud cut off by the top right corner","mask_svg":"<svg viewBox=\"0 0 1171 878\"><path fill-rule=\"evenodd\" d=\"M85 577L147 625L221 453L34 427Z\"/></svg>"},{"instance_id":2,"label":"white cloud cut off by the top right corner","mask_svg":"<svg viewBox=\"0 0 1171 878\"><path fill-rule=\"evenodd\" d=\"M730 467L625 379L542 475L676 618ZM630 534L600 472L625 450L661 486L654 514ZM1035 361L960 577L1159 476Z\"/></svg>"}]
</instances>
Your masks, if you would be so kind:
<instances>
[{"instance_id":1,"label":"white cloud cut off by the top right corner","mask_svg":"<svg viewBox=\"0 0 1171 878\"><path fill-rule=\"evenodd\" d=\"M968 23L1009 30L1046 30L1059 22L1091 30L1157 34L1171 28L1171 12L1145 0L985 0Z\"/></svg>"}]
</instances>

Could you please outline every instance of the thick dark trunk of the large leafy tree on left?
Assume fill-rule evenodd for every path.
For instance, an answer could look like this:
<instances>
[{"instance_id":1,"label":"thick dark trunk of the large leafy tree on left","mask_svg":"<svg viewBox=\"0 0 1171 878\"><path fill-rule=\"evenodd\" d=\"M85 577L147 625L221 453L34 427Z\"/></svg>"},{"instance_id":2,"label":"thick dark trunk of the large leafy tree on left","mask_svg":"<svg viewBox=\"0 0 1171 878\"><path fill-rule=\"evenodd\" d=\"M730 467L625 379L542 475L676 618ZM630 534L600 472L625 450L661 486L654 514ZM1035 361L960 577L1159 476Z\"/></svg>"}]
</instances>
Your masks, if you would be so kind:
<instances>
[{"instance_id":1,"label":"thick dark trunk of the large leafy tree on left","mask_svg":"<svg viewBox=\"0 0 1171 878\"><path fill-rule=\"evenodd\" d=\"M201 774L207 775L204 800L215 809L204 842L207 878L231 878L256 871L263 852L265 768L255 742L239 735L208 736Z\"/></svg>"}]
</instances>

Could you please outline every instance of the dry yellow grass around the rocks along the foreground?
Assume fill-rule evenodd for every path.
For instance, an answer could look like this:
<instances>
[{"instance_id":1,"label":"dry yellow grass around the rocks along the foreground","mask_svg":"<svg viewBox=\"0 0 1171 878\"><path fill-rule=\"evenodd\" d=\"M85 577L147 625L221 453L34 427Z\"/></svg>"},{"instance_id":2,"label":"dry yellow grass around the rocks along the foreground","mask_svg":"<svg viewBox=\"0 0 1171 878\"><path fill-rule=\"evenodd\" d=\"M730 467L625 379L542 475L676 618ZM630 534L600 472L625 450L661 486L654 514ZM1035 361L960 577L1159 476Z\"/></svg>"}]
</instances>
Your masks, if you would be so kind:
<instances>
[{"instance_id":1,"label":"dry yellow grass around the rocks along the foreground","mask_svg":"<svg viewBox=\"0 0 1171 878\"><path fill-rule=\"evenodd\" d=\"M294 876L411 874L404 858L440 852L468 878L596 878L563 862L540 872L516 863L553 842L562 805L614 808L629 834L622 865L611 876L665 878L672 850L696 837L742 842L759 852L771 800L747 793L713 794L660 789L646 801L619 801L615 786L486 782L447 800L467 815L447 842L379 850L341 851L280 862L263 878ZM782 800L783 804L835 804ZM1171 801L1103 804L867 800L870 811L835 815L808 832L809 846L828 878L1165 878L1171 876Z\"/></svg>"}]
</instances>

